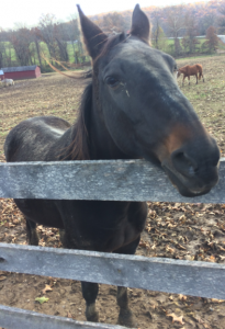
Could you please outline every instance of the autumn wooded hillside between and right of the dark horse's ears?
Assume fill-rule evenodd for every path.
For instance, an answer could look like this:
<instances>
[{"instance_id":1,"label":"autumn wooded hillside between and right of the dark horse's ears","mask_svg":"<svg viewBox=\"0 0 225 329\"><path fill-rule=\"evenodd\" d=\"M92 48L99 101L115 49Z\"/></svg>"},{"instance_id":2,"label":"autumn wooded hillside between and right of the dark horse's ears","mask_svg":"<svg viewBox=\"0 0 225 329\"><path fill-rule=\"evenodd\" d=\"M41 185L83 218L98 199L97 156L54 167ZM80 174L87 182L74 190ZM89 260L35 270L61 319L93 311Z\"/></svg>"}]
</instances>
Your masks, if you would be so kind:
<instances>
[{"instance_id":1,"label":"autumn wooded hillside between and right of the dark horse's ears","mask_svg":"<svg viewBox=\"0 0 225 329\"><path fill-rule=\"evenodd\" d=\"M151 22L151 44L170 55L212 53L218 45L216 34L225 34L225 0L196 2L164 8L144 8ZM93 16L106 33L128 32L132 11ZM198 36L204 35L205 42ZM168 42L168 38L172 38Z\"/></svg>"}]
</instances>

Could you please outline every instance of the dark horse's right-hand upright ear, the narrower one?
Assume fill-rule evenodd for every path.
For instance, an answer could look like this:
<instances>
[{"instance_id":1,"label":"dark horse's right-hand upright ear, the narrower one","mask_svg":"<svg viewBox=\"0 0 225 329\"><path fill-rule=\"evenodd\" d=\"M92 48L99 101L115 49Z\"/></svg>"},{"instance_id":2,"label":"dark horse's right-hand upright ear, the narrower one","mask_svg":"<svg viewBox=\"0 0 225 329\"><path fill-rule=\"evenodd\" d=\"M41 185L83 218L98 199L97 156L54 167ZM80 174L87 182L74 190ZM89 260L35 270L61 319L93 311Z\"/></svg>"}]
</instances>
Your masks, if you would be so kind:
<instances>
[{"instance_id":1,"label":"dark horse's right-hand upright ear, the narrower one","mask_svg":"<svg viewBox=\"0 0 225 329\"><path fill-rule=\"evenodd\" d=\"M139 4L136 4L133 11L131 34L148 42L150 23L146 14L140 10Z\"/></svg>"}]
</instances>

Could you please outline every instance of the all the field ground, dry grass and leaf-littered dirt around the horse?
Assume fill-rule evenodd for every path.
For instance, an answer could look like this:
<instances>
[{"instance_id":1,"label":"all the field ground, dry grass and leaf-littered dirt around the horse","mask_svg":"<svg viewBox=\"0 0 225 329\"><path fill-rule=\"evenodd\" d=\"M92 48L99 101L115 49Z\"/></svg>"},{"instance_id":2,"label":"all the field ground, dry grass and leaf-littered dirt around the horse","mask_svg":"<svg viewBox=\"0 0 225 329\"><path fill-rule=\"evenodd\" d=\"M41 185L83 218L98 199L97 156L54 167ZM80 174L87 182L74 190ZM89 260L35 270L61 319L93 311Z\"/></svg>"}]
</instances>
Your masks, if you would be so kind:
<instances>
[{"instance_id":1,"label":"all the field ground, dry grass and leaf-littered dirt around the horse","mask_svg":"<svg viewBox=\"0 0 225 329\"><path fill-rule=\"evenodd\" d=\"M225 155L225 56L178 60L178 66L201 63L205 83L182 91L193 104L205 127L215 136ZM0 160L3 141L22 120L35 115L58 115L72 123L87 80L57 73L37 80L16 81L0 89ZM179 80L181 84L181 79ZM209 262L225 262L225 205L148 203L148 218L137 254ZM57 229L38 226L41 246L60 247ZM0 241L26 243L25 222L12 200L0 198ZM204 280L204 277L202 277ZM116 287L100 285L97 302L100 321L116 324ZM128 290L130 304L140 329L225 328L225 300ZM37 297L45 296L40 304ZM85 320L80 283L45 276L0 271L0 304L49 315ZM22 328L21 328L22 329Z\"/></svg>"}]
</instances>

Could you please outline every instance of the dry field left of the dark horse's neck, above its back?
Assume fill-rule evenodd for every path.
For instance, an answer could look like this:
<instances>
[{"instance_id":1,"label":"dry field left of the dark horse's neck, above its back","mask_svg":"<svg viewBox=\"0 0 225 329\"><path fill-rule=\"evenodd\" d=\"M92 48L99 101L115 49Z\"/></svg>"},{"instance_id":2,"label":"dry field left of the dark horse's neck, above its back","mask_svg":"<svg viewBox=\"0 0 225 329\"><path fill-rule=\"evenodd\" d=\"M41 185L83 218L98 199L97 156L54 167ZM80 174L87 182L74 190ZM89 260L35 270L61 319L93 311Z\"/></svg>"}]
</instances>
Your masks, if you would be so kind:
<instances>
[{"instance_id":1,"label":"dry field left of the dark horse's neck, above its back","mask_svg":"<svg viewBox=\"0 0 225 329\"><path fill-rule=\"evenodd\" d=\"M80 95L87 80L69 79L59 73L43 75L35 80L15 81L0 90L0 159L9 131L21 121L40 115L76 120Z\"/></svg>"}]
</instances>

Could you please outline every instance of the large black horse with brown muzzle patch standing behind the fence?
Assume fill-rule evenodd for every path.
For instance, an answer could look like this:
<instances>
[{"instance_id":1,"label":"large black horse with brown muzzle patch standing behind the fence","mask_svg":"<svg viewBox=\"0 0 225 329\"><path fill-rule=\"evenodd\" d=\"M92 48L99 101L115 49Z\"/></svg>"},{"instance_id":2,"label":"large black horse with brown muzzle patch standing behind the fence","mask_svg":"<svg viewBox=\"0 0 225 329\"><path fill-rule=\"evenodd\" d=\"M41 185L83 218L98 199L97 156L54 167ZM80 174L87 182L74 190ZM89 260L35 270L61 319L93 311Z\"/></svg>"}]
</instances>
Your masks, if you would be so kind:
<instances>
[{"instance_id":1,"label":"large black horse with brown muzzle patch standing behind the fence","mask_svg":"<svg viewBox=\"0 0 225 329\"><path fill-rule=\"evenodd\" d=\"M207 193L217 182L220 151L177 86L172 57L148 44L149 22L137 4L128 35L106 36L78 7L92 81L78 121L42 116L7 137L7 161L139 159L158 163L182 195ZM76 178L75 178L76 179ZM31 245L36 223L64 229L64 247L133 254L145 227L142 202L15 200ZM98 321L98 284L82 282L86 316ZM127 291L117 288L119 322L135 327Z\"/></svg>"}]
</instances>

